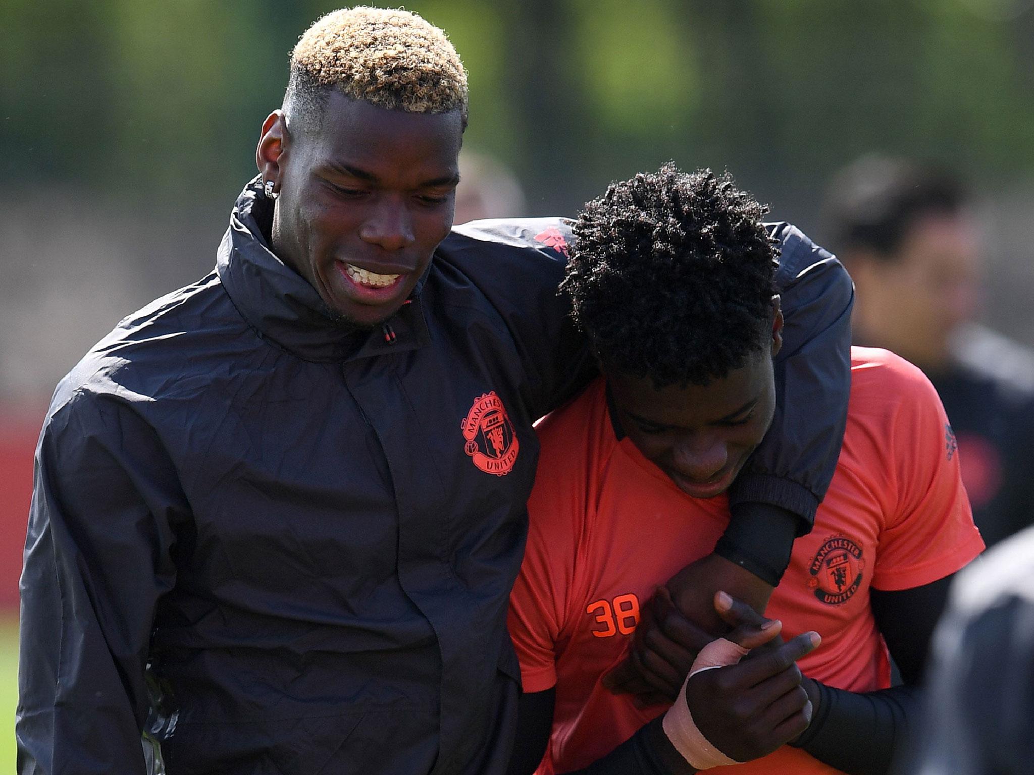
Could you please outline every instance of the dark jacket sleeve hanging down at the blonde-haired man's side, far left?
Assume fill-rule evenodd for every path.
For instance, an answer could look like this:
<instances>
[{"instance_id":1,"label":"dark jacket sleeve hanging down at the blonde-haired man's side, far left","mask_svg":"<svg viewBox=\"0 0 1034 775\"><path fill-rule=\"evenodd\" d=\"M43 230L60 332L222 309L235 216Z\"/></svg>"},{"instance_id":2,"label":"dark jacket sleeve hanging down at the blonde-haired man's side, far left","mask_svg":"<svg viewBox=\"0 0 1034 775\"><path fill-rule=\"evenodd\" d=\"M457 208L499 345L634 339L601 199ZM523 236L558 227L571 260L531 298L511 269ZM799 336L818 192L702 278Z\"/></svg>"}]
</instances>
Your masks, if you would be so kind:
<instances>
[{"instance_id":1,"label":"dark jacket sleeve hanging down at the blonde-haired man's side, far left","mask_svg":"<svg viewBox=\"0 0 1034 775\"><path fill-rule=\"evenodd\" d=\"M145 667L183 502L154 431L126 404L75 393L52 409L21 582L21 775L145 773Z\"/></svg>"}]
</instances>

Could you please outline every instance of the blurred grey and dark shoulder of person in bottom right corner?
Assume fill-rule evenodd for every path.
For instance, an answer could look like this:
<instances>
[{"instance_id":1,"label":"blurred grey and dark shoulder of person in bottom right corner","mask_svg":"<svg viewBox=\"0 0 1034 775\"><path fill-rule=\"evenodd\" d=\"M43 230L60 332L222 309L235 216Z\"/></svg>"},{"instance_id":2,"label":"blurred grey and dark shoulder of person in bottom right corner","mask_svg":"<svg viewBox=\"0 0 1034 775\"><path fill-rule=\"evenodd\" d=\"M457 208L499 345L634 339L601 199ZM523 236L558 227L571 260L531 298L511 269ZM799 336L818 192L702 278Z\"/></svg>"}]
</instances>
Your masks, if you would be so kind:
<instances>
[{"instance_id":1,"label":"blurred grey and dark shoulder of person in bottom right corner","mask_svg":"<svg viewBox=\"0 0 1034 775\"><path fill-rule=\"evenodd\" d=\"M960 574L934 639L920 740L903 775L1034 771L1034 527Z\"/></svg>"}]
</instances>

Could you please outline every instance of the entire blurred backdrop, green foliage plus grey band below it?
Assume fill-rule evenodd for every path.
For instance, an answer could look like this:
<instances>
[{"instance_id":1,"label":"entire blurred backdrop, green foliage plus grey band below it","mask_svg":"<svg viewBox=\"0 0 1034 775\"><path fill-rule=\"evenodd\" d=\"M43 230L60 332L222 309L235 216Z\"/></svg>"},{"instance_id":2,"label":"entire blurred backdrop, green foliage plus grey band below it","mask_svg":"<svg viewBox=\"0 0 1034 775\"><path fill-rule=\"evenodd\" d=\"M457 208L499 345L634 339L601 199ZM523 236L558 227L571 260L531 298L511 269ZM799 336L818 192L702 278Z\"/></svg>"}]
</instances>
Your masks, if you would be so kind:
<instances>
[{"instance_id":1,"label":"entire blurred backdrop, green foliage plus grey band below it","mask_svg":"<svg viewBox=\"0 0 1034 775\"><path fill-rule=\"evenodd\" d=\"M211 267L288 52L327 0L0 0L0 402L43 401L120 317ZM465 146L515 215L674 159L823 241L859 154L983 194L984 317L1034 341L1034 0L414 0L470 76ZM835 246L832 246L835 247Z\"/></svg>"}]
</instances>

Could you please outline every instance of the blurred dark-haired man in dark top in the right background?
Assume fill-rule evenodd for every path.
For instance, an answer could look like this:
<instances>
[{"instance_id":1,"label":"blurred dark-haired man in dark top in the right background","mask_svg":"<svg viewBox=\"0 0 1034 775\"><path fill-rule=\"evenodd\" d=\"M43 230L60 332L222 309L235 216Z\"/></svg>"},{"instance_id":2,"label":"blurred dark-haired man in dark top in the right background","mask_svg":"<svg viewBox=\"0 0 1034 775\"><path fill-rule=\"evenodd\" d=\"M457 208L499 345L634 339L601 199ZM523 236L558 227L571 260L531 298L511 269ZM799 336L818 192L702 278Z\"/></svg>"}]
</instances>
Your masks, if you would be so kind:
<instances>
[{"instance_id":1,"label":"blurred dark-haired man in dark top in the right background","mask_svg":"<svg viewBox=\"0 0 1034 775\"><path fill-rule=\"evenodd\" d=\"M825 220L857 288L855 342L893 350L937 388L987 546L1024 528L1034 358L972 322L983 255L968 193L941 169L865 156L833 178Z\"/></svg>"}]
</instances>

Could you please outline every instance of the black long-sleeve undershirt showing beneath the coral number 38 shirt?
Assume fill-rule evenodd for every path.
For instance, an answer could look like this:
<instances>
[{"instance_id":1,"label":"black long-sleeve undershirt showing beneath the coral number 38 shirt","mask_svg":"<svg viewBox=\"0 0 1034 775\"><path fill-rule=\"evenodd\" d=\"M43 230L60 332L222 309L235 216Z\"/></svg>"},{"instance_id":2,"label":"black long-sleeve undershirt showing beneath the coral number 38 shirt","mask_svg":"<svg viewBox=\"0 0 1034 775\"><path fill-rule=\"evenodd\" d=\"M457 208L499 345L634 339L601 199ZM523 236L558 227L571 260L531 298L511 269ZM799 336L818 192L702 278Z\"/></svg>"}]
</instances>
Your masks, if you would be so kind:
<instances>
[{"instance_id":1,"label":"black long-sleeve undershirt showing beneath the coral number 38 shirt","mask_svg":"<svg viewBox=\"0 0 1034 775\"><path fill-rule=\"evenodd\" d=\"M930 642L947 599L952 577L900 591L870 591L873 615L904 686L852 692L820 685L820 702L812 725L797 742L819 761L848 775L885 775L893 754L908 737L918 711L917 684ZM816 682L817 683L817 682ZM509 775L535 772L549 742L555 690L524 694L520 700L517 742ZM667 747L665 747L667 746ZM659 729L647 724L607 756L572 775L685 775L695 772Z\"/></svg>"}]
</instances>

